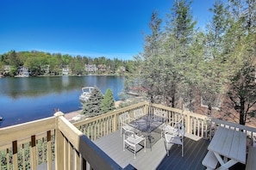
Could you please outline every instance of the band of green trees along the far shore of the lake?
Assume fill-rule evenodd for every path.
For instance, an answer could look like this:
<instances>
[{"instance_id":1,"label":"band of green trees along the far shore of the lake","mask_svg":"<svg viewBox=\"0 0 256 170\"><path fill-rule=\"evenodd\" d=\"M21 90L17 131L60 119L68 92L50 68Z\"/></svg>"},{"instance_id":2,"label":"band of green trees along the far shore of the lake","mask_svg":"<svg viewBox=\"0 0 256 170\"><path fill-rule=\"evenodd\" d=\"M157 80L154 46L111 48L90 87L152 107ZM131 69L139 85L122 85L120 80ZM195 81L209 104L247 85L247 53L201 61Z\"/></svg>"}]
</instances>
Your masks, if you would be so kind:
<instances>
[{"instance_id":1,"label":"band of green trees along the far shore of the lake","mask_svg":"<svg viewBox=\"0 0 256 170\"><path fill-rule=\"evenodd\" d=\"M15 52L10 51L0 55L0 65L10 65L12 68L25 66L32 76L51 75L58 76L62 74L62 68L69 66L72 75L85 75L85 64L105 64L107 72L104 74L116 74L117 70L123 66L129 68L133 65L133 61L122 61L118 58L108 59L104 57L87 58L87 57L72 57L68 54L62 55L60 53L50 54L48 52ZM49 72L45 72L43 68L49 67ZM16 75L16 69L10 72L10 76ZM0 73L1 71L0 68ZM99 72L98 74L102 74Z\"/></svg>"}]
</instances>

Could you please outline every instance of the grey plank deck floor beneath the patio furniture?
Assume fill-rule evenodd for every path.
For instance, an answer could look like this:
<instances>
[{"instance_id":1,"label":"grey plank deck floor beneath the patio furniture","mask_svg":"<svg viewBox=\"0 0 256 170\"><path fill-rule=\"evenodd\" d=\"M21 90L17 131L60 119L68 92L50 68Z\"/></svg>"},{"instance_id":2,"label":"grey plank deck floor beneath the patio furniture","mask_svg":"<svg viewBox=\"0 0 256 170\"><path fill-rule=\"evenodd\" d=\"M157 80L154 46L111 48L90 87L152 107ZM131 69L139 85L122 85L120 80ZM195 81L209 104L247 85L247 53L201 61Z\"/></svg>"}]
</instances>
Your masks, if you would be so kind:
<instances>
[{"instance_id":1,"label":"grey plank deck floor beneath the patio furniture","mask_svg":"<svg viewBox=\"0 0 256 170\"><path fill-rule=\"evenodd\" d=\"M160 134L158 135L160 137ZM123 168L131 164L138 170L206 169L203 167L202 161L208 151L209 140L203 138L195 140L193 137L184 137L184 157L182 157L181 148L177 145L172 146L170 155L167 156L164 140L161 140L159 137L156 143L153 143L152 150L147 143L147 151L144 152L144 149L141 148L137 152L136 159L134 159L134 153L132 151L128 149L125 149L125 151L122 150L120 131L97 139L94 143ZM230 169L245 169L245 166L236 164Z\"/></svg>"}]
</instances>

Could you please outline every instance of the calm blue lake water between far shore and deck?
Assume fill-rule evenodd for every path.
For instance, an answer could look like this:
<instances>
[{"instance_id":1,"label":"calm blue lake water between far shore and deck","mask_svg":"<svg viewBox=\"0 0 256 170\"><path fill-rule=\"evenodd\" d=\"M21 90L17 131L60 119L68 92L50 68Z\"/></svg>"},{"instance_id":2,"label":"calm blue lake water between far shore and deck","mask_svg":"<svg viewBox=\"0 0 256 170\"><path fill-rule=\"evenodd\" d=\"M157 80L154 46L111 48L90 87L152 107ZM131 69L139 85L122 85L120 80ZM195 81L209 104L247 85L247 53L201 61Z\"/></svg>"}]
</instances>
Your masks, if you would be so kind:
<instances>
[{"instance_id":1,"label":"calm blue lake water between far shore and deck","mask_svg":"<svg viewBox=\"0 0 256 170\"><path fill-rule=\"evenodd\" d=\"M0 128L61 112L81 109L78 100L85 86L97 86L103 94L111 88L115 100L123 89L124 76L51 76L0 78Z\"/></svg>"}]
</instances>

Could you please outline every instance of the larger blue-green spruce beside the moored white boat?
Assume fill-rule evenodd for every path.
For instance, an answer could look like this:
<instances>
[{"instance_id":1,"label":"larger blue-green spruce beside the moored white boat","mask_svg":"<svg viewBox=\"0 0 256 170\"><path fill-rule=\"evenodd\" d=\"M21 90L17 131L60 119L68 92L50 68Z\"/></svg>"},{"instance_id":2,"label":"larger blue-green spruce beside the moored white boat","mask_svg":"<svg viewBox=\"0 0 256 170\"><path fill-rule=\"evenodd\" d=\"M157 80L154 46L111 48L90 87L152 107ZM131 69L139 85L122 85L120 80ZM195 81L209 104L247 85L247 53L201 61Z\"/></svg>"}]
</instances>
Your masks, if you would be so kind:
<instances>
[{"instance_id":1,"label":"larger blue-green spruce beside the moored white boat","mask_svg":"<svg viewBox=\"0 0 256 170\"><path fill-rule=\"evenodd\" d=\"M88 100L85 100L82 113L88 117L100 115L103 101L102 92L95 86Z\"/></svg>"}]
</instances>

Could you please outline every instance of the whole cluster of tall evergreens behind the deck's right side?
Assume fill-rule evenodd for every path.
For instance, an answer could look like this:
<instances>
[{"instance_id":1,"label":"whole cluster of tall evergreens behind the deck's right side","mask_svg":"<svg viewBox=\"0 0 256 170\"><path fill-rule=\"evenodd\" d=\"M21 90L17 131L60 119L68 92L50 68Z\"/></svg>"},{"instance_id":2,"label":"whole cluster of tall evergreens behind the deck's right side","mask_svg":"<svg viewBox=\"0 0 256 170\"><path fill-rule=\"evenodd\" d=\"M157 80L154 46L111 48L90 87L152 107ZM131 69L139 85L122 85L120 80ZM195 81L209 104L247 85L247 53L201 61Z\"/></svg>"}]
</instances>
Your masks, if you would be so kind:
<instances>
[{"instance_id":1,"label":"whole cluster of tall evergreens behind the deck's right side","mask_svg":"<svg viewBox=\"0 0 256 170\"><path fill-rule=\"evenodd\" d=\"M240 124L244 124L247 115L255 113L256 88L246 82L255 83L256 2L215 1L203 32L195 29L190 4L190 0L175 1L165 20L153 12L152 33L145 36L144 52L134 57L126 90L144 86L149 88L150 101L172 107L181 102L180 108L190 106L191 111L198 96L210 111L216 97L229 94L241 115ZM165 29L161 29L161 21L166 21Z\"/></svg>"}]
</instances>

